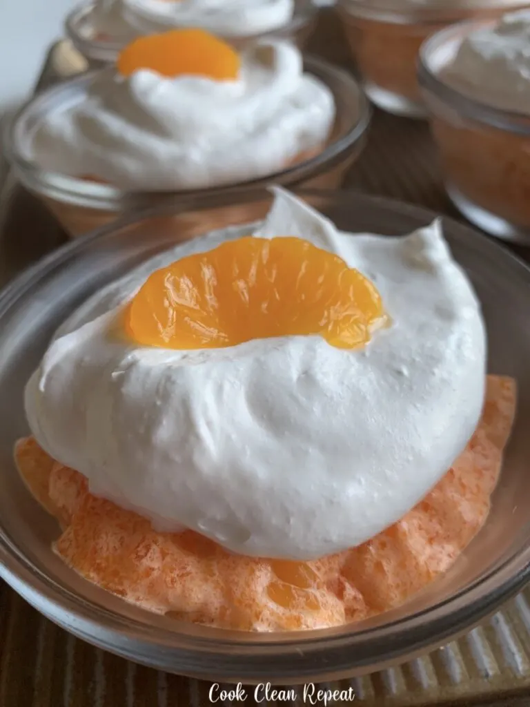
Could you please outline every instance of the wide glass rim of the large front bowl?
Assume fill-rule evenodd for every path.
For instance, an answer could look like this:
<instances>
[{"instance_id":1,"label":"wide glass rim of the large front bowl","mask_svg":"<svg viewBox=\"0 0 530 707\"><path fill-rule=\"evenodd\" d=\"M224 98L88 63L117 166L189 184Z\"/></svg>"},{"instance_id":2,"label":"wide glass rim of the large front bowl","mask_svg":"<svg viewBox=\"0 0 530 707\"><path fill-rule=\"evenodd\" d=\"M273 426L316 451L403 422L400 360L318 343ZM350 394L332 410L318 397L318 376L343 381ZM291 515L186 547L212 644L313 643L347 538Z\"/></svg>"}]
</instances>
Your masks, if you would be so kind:
<instances>
[{"instance_id":1,"label":"wide glass rim of the large front bowl","mask_svg":"<svg viewBox=\"0 0 530 707\"><path fill-rule=\"evenodd\" d=\"M264 189L259 194L247 194L248 201L263 199ZM432 220L433 213L428 209L401 204L399 201L383 197L370 197L355 192L336 193L316 189L300 189L300 197L325 197L334 203L361 201L370 204L375 209L396 211L400 214L421 216ZM193 208L191 202L190 207ZM175 213L175 204L163 204L151 209L143 209L134 214L120 218L114 223L95 230L84 238L73 240L59 247L37 264L23 271L0 292L0 320L17 301L25 296L35 281L53 276L54 270L86 251L94 243L103 244L116 237L124 228L133 226L148 218ZM457 227L461 235L466 237L466 247L471 252L486 255L495 264L499 259L510 262L524 276L530 286L530 267L521 259L502 248L493 240L485 239L483 235L469 226L464 226L443 217L446 223ZM510 554L502 562L473 580L457 593L437 604L420 611L408 614L394 621L368 627L351 633L348 624L336 629L321 629L317 631L288 631L283 633L249 633L245 631L229 631L227 629L212 629L206 626L193 625L192 631L187 631L187 624L177 622L178 629L160 629L153 636L152 626L139 620L132 620L123 615L101 607L97 602L86 600L75 592L67 590L48 578L37 568L29 558L25 557L16 544L0 528L0 576L16 589L31 604L40 611L53 614L54 621L73 631L85 640L95 643L88 630L98 629L98 642L102 648L124 655L138 662L150 663L142 655L141 649L148 645L149 650L173 651L171 655L179 660L179 672L192 674L196 677L211 677L216 670L223 679L252 680L273 674L271 670L283 670L285 679L300 679L307 677L317 665L326 665L326 670L340 672L351 669L351 651L358 651L360 656L355 665L370 667L370 660L380 660L387 665L399 659L410 650L424 650L433 645L440 645L445 640L451 640L456 633L469 629L473 624L495 612L501 602L512 597L530 579L530 522L519 535L524 537L520 547L510 549ZM501 573L507 573L507 578L500 580ZM484 594L484 591L486 593ZM46 609L43 606L47 607ZM142 612L152 617L148 612ZM48 614L49 615L49 614ZM67 624L64 617L73 617L76 628ZM106 622L105 626L101 621ZM370 619L368 619L370 621ZM132 623L132 630L131 630ZM357 626L362 626L361 621ZM182 630L180 630L182 626ZM388 641L389 629L393 631L392 641ZM116 643L114 633L127 645L127 651ZM190 635L190 634L194 635ZM235 638L233 638L235 636ZM179 645L175 646L175 641ZM367 650L372 650L370 653ZM134 650L140 651L136 655ZM350 653L348 653L348 650ZM382 654L382 655L381 655ZM153 654L154 655L154 654ZM286 665L285 659L290 662ZM153 658L153 661L155 658ZM216 662L216 667L208 665L208 660ZM276 662L275 662L276 661ZM204 662L204 665L203 665ZM267 665L272 665L267 672ZM331 667L330 667L331 666ZM167 668L165 668L167 669ZM227 677L228 674L228 677Z\"/></svg>"}]
</instances>

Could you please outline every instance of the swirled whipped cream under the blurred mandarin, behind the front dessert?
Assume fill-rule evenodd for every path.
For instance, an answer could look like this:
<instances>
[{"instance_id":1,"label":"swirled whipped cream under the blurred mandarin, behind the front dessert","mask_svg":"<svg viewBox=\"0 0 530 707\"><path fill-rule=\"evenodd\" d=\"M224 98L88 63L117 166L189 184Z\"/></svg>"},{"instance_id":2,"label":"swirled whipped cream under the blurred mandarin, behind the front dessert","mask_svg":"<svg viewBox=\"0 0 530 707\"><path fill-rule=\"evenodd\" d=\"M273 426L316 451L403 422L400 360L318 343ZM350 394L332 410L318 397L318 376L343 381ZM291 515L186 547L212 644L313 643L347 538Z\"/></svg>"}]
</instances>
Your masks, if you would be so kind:
<instances>
[{"instance_id":1,"label":"swirled whipped cream under the blurred mandarin, behind the front dessert","mask_svg":"<svg viewBox=\"0 0 530 707\"><path fill-rule=\"evenodd\" d=\"M235 81L102 71L42 120L31 158L134 191L216 187L321 151L334 118L331 91L304 73L298 49L271 40L242 52Z\"/></svg>"}]
</instances>

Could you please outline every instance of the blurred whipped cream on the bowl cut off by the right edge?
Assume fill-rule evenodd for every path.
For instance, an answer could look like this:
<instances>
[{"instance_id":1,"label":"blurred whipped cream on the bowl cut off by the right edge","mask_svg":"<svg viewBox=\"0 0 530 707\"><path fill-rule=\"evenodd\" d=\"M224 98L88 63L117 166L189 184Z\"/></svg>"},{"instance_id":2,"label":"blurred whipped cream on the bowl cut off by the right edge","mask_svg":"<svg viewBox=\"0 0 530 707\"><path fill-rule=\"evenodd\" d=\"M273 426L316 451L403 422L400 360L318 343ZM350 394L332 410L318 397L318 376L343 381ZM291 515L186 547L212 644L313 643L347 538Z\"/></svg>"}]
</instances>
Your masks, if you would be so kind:
<instances>
[{"instance_id":1,"label":"blurred whipped cream on the bowl cut off by the right edge","mask_svg":"<svg viewBox=\"0 0 530 707\"><path fill-rule=\"evenodd\" d=\"M441 76L481 103L530 115L530 9L466 35Z\"/></svg>"}]
</instances>

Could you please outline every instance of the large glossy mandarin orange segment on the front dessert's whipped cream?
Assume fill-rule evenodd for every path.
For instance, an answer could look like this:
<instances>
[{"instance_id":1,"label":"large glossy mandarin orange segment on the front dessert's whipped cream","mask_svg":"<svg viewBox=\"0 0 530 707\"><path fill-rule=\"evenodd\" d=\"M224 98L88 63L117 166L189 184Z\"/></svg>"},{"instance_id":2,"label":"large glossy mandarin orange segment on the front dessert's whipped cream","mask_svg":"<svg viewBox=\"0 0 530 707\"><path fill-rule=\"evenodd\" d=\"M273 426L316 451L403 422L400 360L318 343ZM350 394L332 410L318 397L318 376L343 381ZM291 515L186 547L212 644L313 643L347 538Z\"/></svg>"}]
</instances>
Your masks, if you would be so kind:
<instances>
[{"instance_id":1,"label":"large glossy mandarin orange segment on the front dessert's whipped cream","mask_svg":"<svg viewBox=\"0 0 530 707\"><path fill-rule=\"evenodd\" d=\"M155 271L126 310L145 346L207 349L320 334L361 346L383 308L375 286L302 238L239 238Z\"/></svg>"}]
</instances>

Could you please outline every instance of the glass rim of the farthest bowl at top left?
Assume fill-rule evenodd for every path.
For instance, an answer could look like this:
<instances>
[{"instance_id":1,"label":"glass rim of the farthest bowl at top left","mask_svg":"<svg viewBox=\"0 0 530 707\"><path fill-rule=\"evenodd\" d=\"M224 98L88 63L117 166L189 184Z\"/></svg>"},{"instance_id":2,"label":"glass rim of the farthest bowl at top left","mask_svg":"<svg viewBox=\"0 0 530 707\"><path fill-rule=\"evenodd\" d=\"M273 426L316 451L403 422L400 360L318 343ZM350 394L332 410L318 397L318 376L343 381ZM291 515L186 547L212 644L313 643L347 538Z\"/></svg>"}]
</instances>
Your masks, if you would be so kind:
<instances>
[{"instance_id":1,"label":"glass rim of the farthest bowl at top left","mask_svg":"<svg viewBox=\"0 0 530 707\"><path fill-rule=\"evenodd\" d=\"M95 0L82 2L76 5L67 15L64 20L64 31L66 36L71 40L72 44L78 49L83 56L93 61L112 62L115 55L124 46L124 42L119 40L94 40L88 37L83 37L79 31L79 25L82 22L90 20L90 15L95 8ZM310 23L316 16L319 8L312 3L312 0L296 0L295 12L293 17L285 25L281 25L273 30L254 33L251 35L220 35L225 40L233 41L255 41L258 39L267 39L269 37L278 37L281 35L289 35L301 30L305 25Z\"/></svg>"}]
</instances>

